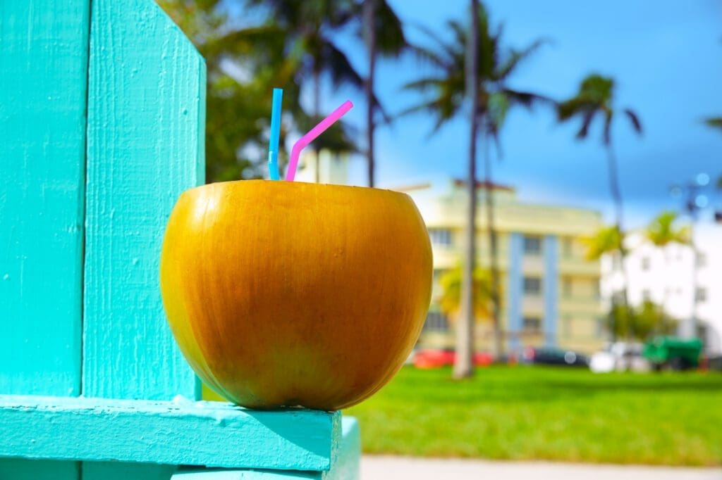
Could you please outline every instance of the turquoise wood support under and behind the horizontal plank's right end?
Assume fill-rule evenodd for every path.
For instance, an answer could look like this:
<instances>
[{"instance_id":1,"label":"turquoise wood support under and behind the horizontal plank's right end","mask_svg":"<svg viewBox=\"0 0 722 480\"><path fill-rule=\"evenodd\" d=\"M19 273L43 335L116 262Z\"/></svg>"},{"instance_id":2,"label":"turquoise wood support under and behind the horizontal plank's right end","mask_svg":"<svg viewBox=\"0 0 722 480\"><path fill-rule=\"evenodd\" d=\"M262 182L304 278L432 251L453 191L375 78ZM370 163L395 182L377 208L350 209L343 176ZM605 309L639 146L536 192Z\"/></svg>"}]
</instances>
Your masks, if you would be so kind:
<instances>
[{"instance_id":1,"label":"turquoise wood support under and behind the horizontal plank's right end","mask_svg":"<svg viewBox=\"0 0 722 480\"><path fill-rule=\"evenodd\" d=\"M358 422L353 417L342 419L342 438L334 449L331 468L327 471L230 470L210 468L181 469L172 480L357 480L361 452Z\"/></svg>"}]
</instances>

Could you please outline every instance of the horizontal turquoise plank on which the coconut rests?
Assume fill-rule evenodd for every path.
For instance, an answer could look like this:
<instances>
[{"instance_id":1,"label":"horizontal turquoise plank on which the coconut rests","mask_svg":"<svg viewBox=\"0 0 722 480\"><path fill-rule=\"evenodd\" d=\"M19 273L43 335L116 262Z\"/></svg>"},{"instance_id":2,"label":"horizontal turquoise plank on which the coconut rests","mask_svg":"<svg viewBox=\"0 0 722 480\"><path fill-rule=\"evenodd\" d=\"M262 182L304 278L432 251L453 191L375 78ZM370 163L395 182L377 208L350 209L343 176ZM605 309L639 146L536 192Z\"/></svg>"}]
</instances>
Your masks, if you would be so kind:
<instances>
[{"instance_id":1,"label":"horizontal turquoise plank on which the coconut rests","mask_svg":"<svg viewBox=\"0 0 722 480\"><path fill-rule=\"evenodd\" d=\"M0 457L321 471L340 417L216 401L0 396Z\"/></svg>"}]
</instances>

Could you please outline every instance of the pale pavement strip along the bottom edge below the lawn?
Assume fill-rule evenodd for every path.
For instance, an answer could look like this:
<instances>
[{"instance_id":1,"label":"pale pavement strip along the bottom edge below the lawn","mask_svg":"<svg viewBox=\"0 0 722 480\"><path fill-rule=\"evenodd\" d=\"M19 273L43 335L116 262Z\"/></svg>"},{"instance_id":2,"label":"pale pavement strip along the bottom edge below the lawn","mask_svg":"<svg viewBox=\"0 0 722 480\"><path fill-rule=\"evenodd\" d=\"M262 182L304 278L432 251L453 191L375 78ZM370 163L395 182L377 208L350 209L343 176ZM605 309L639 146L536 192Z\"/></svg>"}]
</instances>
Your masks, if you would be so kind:
<instances>
[{"instance_id":1,"label":"pale pavement strip along the bottom edge below the lawn","mask_svg":"<svg viewBox=\"0 0 722 480\"><path fill-rule=\"evenodd\" d=\"M722 480L722 468L503 462L364 455L361 480Z\"/></svg>"}]
</instances>

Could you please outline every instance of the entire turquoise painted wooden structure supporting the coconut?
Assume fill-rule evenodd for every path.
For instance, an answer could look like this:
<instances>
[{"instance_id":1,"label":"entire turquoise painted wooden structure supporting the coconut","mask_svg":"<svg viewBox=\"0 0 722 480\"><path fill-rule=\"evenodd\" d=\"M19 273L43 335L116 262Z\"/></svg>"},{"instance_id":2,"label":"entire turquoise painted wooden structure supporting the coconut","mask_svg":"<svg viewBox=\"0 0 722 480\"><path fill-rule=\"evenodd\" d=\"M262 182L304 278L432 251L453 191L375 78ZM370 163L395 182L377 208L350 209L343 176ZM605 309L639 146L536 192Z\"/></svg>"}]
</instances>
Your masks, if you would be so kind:
<instances>
[{"instance_id":1,"label":"entire turquoise painted wooden structure supporting the coconut","mask_svg":"<svg viewBox=\"0 0 722 480\"><path fill-rule=\"evenodd\" d=\"M0 478L357 478L354 419L197 401L170 335L162 231L204 172L186 37L150 0L35 0L0 43Z\"/></svg>"}]
</instances>

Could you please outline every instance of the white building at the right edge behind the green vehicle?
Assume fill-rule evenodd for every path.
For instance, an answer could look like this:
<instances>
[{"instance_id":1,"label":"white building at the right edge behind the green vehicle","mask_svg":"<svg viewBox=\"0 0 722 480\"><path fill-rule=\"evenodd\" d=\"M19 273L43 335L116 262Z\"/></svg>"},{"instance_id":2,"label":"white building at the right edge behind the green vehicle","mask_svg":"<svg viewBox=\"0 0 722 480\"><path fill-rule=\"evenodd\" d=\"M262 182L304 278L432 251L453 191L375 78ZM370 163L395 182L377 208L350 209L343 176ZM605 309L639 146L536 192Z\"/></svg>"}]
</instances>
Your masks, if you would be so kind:
<instances>
[{"instance_id":1,"label":"white building at the right edge behind the green vehicle","mask_svg":"<svg viewBox=\"0 0 722 480\"><path fill-rule=\"evenodd\" d=\"M625 258L627 298L638 306L651 300L680 321L679 334L697 334L712 355L722 354L722 226L695 228L691 246L670 244L664 249L645 241L641 232L627 237L629 254ZM617 262L617 265L615 265ZM619 259L605 257L601 263L601 294L611 302L612 294L622 290L624 279ZM696 319L694 324L690 319Z\"/></svg>"}]
</instances>

